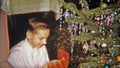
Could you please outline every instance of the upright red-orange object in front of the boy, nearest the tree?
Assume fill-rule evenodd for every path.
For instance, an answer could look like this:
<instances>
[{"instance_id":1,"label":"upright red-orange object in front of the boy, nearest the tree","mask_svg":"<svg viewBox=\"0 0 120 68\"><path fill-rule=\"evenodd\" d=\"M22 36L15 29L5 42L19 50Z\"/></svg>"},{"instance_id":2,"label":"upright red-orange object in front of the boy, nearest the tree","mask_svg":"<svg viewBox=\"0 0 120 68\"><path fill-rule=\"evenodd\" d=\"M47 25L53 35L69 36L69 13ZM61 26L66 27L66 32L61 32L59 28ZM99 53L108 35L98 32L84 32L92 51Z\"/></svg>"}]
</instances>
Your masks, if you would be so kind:
<instances>
[{"instance_id":1,"label":"upright red-orange object in front of the boy, nearest the tree","mask_svg":"<svg viewBox=\"0 0 120 68\"><path fill-rule=\"evenodd\" d=\"M62 61L62 68L68 68L69 65L69 53L67 51L65 51L64 49L58 49L57 50L57 56L58 56L58 60Z\"/></svg>"}]
</instances>

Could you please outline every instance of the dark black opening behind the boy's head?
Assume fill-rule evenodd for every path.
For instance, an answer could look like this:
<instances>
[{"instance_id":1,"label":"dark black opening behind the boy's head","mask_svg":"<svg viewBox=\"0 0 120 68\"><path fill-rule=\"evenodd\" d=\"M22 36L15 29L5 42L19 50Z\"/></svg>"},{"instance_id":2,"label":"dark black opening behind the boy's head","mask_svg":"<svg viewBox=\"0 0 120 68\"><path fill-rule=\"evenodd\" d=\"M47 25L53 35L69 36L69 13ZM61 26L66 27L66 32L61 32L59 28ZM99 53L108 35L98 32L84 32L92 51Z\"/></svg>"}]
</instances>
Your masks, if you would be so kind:
<instances>
[{"instance_id":1,"label":"dark black opening behind the boy's head","mask_svg":"<svg viewBox=\"0 0 120 68\"><path fill-rule=\"evenodd\" d=\"M56 53L56 38L57 33L55 29L58 26L56 22L55 13L53 11L49 12L37 12L37 13L28 13L28 14L17 14L8 16L8 28L9 28L9 38L10 38L10 48L15 44L20 42L26 37L26 30L28 27L28 20L31 17L40 17L51 27L50 38L48 39L48 52L50 58L55 58ZM54 54L53 54L54 53Z\"/></svg>"}]
</instances>

